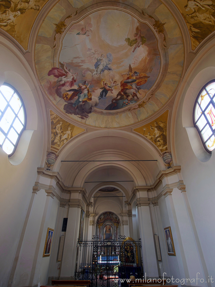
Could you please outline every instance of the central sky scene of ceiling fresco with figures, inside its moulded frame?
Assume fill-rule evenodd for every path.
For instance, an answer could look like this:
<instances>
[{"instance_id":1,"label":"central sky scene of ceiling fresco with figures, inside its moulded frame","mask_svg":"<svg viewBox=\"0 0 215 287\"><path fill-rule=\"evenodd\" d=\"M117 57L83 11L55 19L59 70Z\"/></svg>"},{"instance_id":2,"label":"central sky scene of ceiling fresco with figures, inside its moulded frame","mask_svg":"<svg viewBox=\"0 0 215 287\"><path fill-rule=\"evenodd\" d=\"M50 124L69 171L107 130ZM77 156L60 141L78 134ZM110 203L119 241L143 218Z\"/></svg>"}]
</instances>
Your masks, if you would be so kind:
<instances>
[{"instance_id":1,"label":"central sky scene of ceiling fresco with figures, inside its moulded frame","mask_svg":"<svg viewBox=\"0 0 215 287\"><path fill-rule=\"evenodd\" d=\"M160 63L146 24L122 11L97 11L68 30L47 85L57 106L84 119L95 108L132 108L154 85Z\"/></svg>"}]
</instances>

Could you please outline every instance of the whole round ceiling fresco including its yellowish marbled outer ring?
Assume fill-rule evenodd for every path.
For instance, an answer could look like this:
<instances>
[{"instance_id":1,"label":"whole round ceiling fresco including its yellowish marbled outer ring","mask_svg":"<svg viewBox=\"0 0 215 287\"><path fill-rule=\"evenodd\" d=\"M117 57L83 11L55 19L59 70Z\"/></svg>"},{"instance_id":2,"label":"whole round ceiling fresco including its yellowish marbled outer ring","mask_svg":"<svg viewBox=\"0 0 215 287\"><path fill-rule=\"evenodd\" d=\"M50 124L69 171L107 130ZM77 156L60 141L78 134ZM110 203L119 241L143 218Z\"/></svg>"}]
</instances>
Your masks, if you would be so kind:
<instances>
[{"instance_id":1,"label":"whole round ceiling fresco including its yellowish marbled outer ring","mask_svg":"<svg viewBox=\"0 0 215 287\"><path fill-rule=\"evenodd\" d=\"M77 9L58 20L58 30L50 11L35 47L45 94L66 115L95 127L123 127L152 115L172 96L183 69L181 33L162 3L152 15L115 6ZM157 20L161 11L171 25Z\"/></svg>"}]
</instances>

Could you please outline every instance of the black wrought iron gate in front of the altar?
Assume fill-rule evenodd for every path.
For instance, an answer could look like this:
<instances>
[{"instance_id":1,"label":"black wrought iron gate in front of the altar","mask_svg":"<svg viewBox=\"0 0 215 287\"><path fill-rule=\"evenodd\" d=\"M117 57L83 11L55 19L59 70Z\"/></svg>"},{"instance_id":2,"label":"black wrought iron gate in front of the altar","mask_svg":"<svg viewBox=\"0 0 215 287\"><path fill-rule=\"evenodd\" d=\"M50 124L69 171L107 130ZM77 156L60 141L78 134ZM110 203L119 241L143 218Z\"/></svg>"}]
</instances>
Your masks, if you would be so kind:
<instances>
[{"instance_id":1,"label":"black wrought iron gate in front of the altar","mask_svg":"<svg viewBox=\"0 0 215 287\"><path fill-rule=\"evenodd\" d=\"M118 287L126 286L131 275L143 277L140 239L120 236L118 241L99 241L93 236L92 241L78 241L76 280L91 280L91 287Z\"/></svg>"}]
</instances>

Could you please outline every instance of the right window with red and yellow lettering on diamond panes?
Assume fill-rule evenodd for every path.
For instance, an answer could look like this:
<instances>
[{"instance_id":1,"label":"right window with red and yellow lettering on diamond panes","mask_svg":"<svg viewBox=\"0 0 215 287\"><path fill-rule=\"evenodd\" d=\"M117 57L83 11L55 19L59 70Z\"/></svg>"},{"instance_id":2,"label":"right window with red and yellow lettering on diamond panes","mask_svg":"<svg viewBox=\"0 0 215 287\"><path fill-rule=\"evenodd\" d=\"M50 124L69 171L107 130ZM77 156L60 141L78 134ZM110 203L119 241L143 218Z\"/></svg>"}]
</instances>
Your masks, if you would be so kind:
<instances>
[{"instance_id":1,"label":"right window with red and yellow lettering on diamond panes","mask_svg":"<svg viewBox=\"0 0 215 287\"><path fill-rule=\"evenodd\" d=\"M193 108L193 124L207 152L215 148L215 80L208 82L198 94Z\"/></svg>"}]
</instances>

